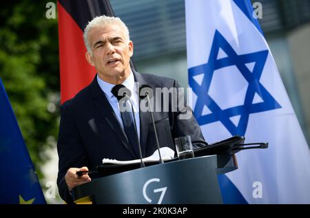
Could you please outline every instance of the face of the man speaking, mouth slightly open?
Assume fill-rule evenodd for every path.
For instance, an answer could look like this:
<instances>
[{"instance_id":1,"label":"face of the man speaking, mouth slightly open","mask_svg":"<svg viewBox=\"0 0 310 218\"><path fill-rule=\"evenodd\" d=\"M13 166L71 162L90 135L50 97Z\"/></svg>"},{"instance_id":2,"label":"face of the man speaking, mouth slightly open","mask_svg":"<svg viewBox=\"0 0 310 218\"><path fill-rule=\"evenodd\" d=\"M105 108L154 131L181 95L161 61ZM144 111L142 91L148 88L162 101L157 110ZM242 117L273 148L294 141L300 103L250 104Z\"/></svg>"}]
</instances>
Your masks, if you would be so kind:
<instances>
[{"instance_id":1,"label":"face of the man speaking, mouth slightly open","mask_svg":"<svg viewBox=\"0 0 310 218\"><path fill-rule=\"evenodd\" d=\"M130 57L133 43L127 41L125 32L118 24L96 27L88 34L92 55L86 53L87 61L96 68L104 81L116 83L119 78L130 75Z\"/></svg>"}]
</instances>

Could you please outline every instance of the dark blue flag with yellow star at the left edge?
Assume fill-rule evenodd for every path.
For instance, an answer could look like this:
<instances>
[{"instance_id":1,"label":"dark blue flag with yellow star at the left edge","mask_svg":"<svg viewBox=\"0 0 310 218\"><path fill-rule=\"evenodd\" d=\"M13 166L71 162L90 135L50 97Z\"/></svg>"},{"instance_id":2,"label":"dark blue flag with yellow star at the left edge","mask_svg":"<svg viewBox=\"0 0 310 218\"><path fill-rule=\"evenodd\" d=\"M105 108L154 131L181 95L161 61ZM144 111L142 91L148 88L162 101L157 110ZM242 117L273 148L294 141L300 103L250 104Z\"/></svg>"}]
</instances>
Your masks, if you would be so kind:
<instances>
[{"instance_id":1,"label":"dark blue flag with yellow star at the left edge","mask_svg":"<svg viewBox=\"0 0 310 218\"><path fill-rule=\"evenodd\" d=\"M46 204L0 79L0 204Z\"/></svg>"}]
</instances>

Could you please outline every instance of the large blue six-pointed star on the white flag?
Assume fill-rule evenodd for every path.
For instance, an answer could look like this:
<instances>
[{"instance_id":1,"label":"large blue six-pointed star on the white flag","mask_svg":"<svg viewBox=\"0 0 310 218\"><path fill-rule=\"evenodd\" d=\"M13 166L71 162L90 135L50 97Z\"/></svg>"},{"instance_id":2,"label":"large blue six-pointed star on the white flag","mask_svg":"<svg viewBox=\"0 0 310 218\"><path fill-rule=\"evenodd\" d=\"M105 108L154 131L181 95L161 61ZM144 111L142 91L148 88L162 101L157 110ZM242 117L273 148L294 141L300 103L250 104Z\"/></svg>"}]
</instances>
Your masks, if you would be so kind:
<instances>
[{"instance_id":1,"label":"large blue six-pointed star on the white flag","mask_svg":"<svg viewBox=\"0 0 310 218\"><path fill-rule=\"evenodd\" d=\"M218 59L218 54L224 57ZM214 40L209 54L209 60L200 66L189 68L189 84L198 96L194 115L200 125L205 125L214 121L220 121L229 130L231 135L245 135L249 115L255 112L273 110L280 108L280 104L274 99L268 90L260 83L262 69L265 66L268 50L262 50L249 54L238 55L222 34L216 30ZM249 64L253 64L251 69ZM218 103L212 99L208 91L214 76L214 72L228 66L236 66L240 74L245 78L247 90L245 100L242 105L234 106L223 110ZM229 73L229 71L227 71ZM260 100L256 102L257 95ZM256 97L256 99L254 99ZM255 100L255 101L254 101ZM211 113L203 115L203 110L207 106ZM231 117L238 116L240 119L236 125L231 121Z\"/></svg>"}]
</instances>

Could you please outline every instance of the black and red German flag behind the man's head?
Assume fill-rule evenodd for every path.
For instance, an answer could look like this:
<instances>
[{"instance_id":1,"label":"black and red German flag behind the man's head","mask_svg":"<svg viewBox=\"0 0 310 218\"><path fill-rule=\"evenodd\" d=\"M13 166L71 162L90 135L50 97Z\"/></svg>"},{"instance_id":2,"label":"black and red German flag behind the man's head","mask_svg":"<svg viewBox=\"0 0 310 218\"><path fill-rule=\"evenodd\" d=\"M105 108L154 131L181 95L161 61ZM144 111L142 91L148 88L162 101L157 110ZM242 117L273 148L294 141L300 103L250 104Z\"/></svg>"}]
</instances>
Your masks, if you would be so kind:
<instances>
[{"instance_id":1,"label":"black and red German flag behind the man's head","mask_svg":"<svg viewBox=\"0 0 310 218\"><path fill-rule=\"evenodd\" d=\"M96 70L85 59L83 31L94 17L114 16L109 0L59 0L59 58L61 72L61 103L85 88Z\"/></svg>"}]
</instances>

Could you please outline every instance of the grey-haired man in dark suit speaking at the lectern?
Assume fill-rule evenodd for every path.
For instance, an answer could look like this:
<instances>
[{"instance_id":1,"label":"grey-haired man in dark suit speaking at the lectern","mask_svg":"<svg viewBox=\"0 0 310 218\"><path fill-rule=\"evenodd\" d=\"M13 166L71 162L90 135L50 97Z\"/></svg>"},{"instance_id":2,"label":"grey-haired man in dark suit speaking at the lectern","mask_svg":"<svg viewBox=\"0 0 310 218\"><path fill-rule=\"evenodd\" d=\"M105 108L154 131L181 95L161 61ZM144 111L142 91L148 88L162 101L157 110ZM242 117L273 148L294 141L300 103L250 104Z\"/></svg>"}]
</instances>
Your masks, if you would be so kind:
<instances>
[{"instance_id":1,"label":"grey-haired man in dark suit speaking at the lectern","mask_svg":"<svg viewBox=\"0 0 310 218\"><path fill-rule=\"evenodd\" d=\"M140 74L130 68L134 44L121 19L96 17L88 23L83 36L87 48L85 57L96 68L97 74L89 86L61 106L57 185L61 197L68 204L72 203L72 188L91 181L89 175L78 177L77 171L96 170L103 158L123 161L140 158L138 144L132 139L130 130L124 128L123 115L112 88L123 84L132 93L130 99L136 114L134 119L141 153L148 157L157 149L156 137L149 112L139 110L139 88L135 83L152 87L152 90L179 87L174 79ZM160 146L175 150L174 138L183 135L190 135L192 141L204 140L192 114L187 119L180 118L191 112L186 101L184 108L186 110L182 112L179 108L154 112Z\"/></svg>"}]
</instances>

